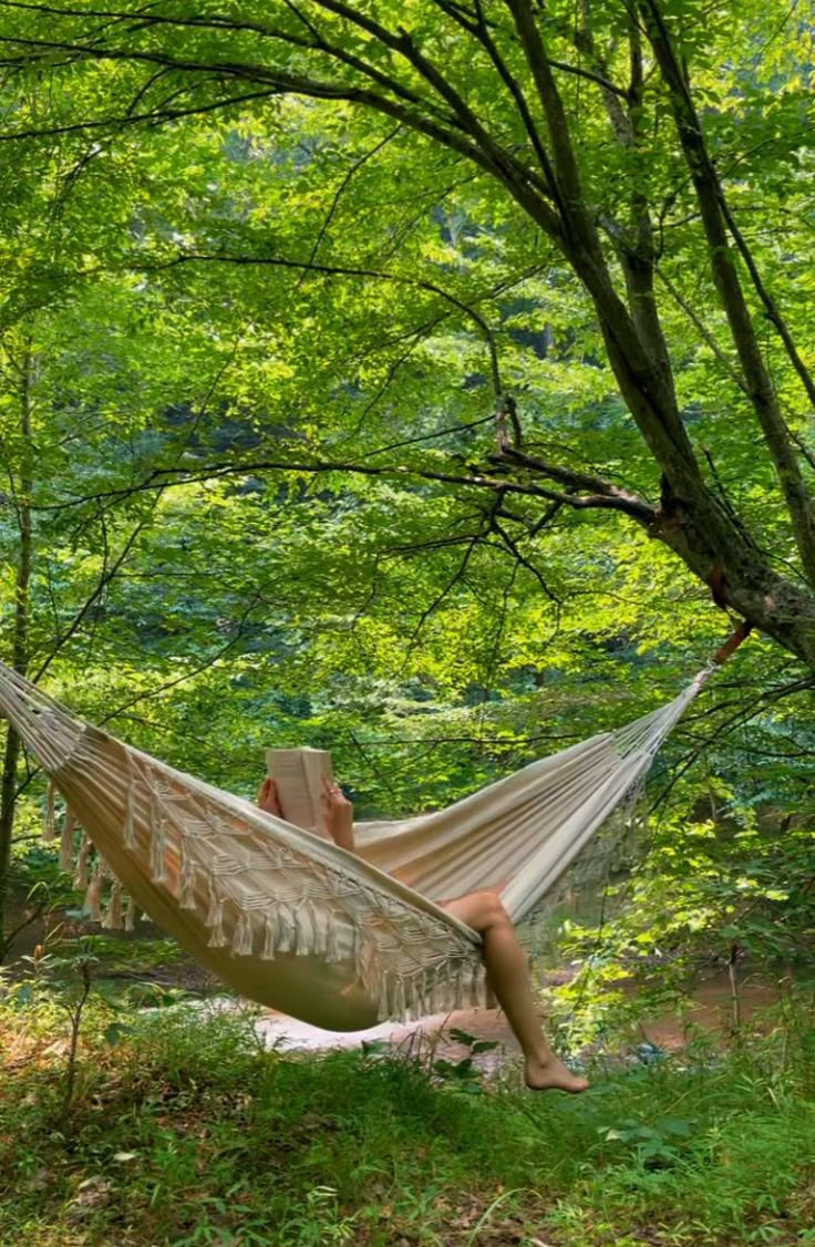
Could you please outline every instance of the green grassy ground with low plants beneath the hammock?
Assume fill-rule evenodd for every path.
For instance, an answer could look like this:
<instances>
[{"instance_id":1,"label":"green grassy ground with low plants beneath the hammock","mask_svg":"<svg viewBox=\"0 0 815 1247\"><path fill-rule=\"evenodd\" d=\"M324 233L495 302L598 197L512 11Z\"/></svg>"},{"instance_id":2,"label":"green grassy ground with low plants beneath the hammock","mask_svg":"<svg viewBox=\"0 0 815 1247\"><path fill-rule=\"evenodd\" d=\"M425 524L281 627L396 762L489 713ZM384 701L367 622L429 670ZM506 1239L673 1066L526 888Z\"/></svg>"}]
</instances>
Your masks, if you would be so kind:
<instances>
[{"instance_id":1,"label":"green grassy ground with low plants beneath the hammock","mask_svg":"<svg viewBox=\"0 0 815 1247\"><path fill-rule=\"evenodd\" d=\"M472 1094L380 1052L262 1051L250 1020L0 1004L0 1243L815 1243L815 1038ZM110 1034L110 1033L108 1033ZM465 1085L472 1086L471 1082Z\"/></svg>"}]
</instances>

